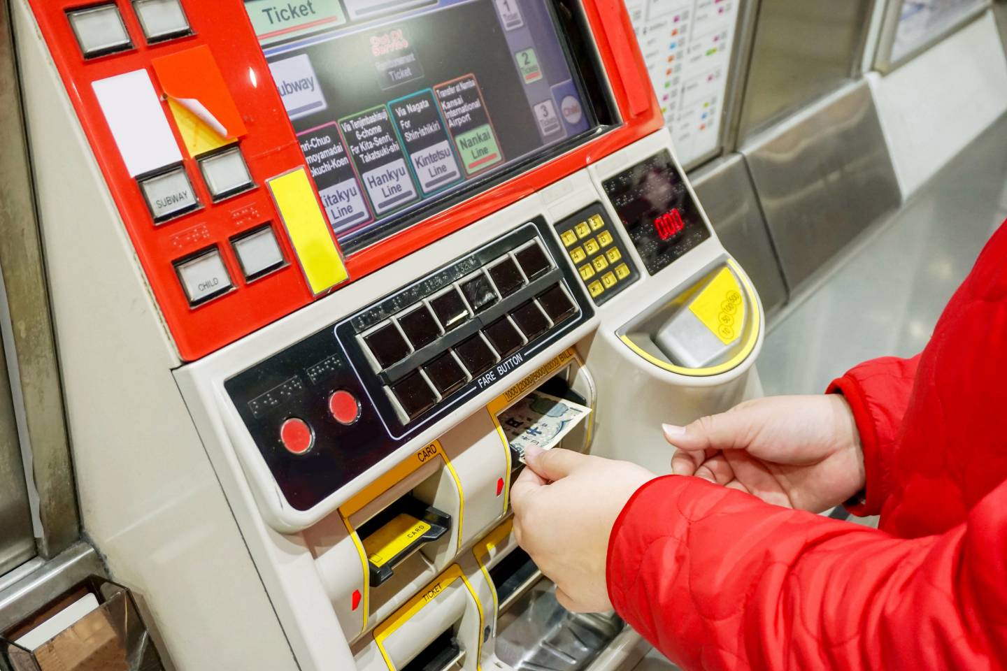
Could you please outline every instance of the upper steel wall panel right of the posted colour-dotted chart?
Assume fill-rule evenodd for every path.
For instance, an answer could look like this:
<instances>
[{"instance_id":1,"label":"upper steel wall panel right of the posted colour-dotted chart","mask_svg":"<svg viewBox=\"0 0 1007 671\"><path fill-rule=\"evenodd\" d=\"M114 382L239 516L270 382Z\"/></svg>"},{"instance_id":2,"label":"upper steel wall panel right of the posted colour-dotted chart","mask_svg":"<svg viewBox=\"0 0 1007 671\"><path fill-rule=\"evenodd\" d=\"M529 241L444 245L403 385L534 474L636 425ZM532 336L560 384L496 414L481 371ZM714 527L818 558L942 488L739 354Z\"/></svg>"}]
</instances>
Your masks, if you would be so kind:
<instances>
[{"instance_id":1,"label":"upper steel wall panel right of the posted colour-dotted chart","mask_svg":"<svg viewBox=\"0 0 1007 671\"><path fill-rule=\"evenodd\" d=\"M741 107L747 138L859 71L872 0L761 0Z\"/></svg>"}]
</instances>

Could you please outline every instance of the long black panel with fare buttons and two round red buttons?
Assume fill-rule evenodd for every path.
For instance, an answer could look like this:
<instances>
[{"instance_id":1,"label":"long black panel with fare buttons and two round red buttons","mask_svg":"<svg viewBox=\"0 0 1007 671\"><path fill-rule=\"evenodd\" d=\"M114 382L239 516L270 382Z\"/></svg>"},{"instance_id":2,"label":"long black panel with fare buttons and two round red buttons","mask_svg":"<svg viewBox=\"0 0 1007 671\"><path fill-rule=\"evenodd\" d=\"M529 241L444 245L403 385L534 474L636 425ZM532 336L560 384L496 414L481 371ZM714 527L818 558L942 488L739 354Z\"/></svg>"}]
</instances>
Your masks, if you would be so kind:
<instances>
[{"instance_id":1,"label":"long black panel with fare buttons and two round red buttons","mask_svg":"<svg viewBox=\"0 0 1007 671\"><path fill-rule=\"evenodd\" d=\"M541 218L235 375L225 388L306 510L593 314Z\"/></svg>"}]
</instances>

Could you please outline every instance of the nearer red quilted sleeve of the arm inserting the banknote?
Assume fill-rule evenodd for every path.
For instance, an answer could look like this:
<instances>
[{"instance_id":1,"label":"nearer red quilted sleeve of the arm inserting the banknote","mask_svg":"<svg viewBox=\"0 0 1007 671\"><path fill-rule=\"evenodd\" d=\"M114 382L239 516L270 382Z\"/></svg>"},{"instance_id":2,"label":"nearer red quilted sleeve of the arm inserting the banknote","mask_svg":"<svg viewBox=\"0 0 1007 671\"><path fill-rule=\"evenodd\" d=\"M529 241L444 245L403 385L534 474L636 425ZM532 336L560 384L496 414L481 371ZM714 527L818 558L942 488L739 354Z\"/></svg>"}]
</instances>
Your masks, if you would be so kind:
<instances>
[{"instance_id":1,"label":"nearer red quilted sleeve of the arm inserting the banknote","mask_svg":"<svg viewBox=\"0 0 1007 671\"><path fill-rule=\"evenodd\" d=\"M686 669L917 671L1002 668L1004 566L1007 483L903 539L666 476L616 521L607 576L615 610Z\"/></svg>"}]
</instances>

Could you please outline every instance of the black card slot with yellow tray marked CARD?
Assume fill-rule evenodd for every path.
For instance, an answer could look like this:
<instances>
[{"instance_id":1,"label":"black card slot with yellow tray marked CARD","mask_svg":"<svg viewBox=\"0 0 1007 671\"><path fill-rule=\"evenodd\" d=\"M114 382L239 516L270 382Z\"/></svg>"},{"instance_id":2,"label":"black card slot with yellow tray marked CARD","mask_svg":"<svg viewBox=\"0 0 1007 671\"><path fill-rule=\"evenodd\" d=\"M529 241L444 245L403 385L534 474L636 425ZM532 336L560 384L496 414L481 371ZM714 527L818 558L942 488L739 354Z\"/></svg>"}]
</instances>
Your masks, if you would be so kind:
<instances>
[{"instance_id":1,"label":"black card slot with yellow tray marked CARD","mask_svg":"<svg viewBox=\"0 0 1007 671\"><path fill-rule=\"evenodd\" d=\"M450 528L450 515L412 493L372 517L357 529L368 555L371 586L385 583L395 574L396 566Z\"/></svg>"}]
</instances>

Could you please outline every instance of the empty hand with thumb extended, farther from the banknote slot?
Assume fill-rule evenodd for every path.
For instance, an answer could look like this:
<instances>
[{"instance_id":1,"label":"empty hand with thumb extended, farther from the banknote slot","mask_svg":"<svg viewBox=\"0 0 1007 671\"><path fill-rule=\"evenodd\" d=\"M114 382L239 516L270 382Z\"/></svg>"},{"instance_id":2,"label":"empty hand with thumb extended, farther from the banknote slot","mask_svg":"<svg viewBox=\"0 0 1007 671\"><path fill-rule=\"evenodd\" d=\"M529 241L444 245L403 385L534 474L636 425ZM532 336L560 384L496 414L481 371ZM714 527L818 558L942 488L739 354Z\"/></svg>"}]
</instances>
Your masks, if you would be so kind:
<instances>
[{"instance_id":1,"label":"empty hand with thumb extended, farther from the banknote slot","mask_svg":"<svg viewBox=\"0 0 1007 671\"><path fill-rule=\"evenodd\" d=\"M757 398L687 427L664 429L678 448L673 473L740 489L767 503L822 512L864 486L860 435L840 394Z\"/></svg>"}]
</instances>

